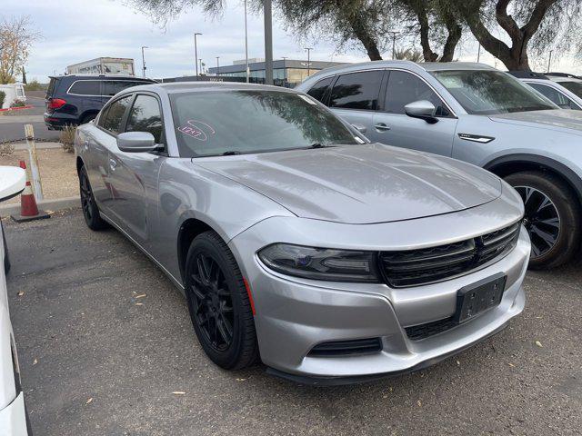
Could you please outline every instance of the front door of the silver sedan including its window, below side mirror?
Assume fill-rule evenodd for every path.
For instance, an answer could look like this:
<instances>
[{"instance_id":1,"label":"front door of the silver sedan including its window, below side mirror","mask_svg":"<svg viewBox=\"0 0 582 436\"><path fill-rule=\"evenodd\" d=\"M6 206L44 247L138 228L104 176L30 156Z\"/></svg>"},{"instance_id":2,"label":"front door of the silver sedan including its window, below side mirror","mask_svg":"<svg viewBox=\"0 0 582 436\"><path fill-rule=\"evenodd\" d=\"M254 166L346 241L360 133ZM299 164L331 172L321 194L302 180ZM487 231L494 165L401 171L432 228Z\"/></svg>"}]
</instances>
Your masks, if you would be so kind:
<instances>
[{"instance_id":1,"label":"front door of the silver sedan including its window, below side mirror","mask_svg":"<svg viewBox=\"0 0 582 436\"><path fill-rule=\"evenodd\" d=\"M148 132L156 144L165 144L159 96L135 94L126 120L125 132ZM165 152L125 153L116 146L109 157L110 181L115 191L111 211L115 220L137 243L150 247L151 223L157 221L157 174L166 160Z\"/></svg>"}]
</instances>

